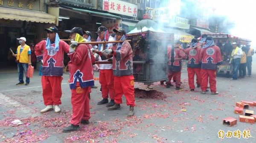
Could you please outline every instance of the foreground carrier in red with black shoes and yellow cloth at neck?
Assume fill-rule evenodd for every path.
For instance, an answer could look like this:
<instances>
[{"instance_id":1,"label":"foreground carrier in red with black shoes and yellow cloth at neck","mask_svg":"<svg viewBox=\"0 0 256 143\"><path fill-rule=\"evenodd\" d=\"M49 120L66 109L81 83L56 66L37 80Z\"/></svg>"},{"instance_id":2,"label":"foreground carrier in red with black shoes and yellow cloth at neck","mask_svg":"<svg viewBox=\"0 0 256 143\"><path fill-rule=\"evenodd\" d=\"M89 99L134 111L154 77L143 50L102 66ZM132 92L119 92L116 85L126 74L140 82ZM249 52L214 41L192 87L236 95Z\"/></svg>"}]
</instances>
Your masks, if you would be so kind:
<instances>
[{"instance_id":1,"label":"foreground carrier in red with black shoes and yellow cloth at neck","mask_svg":"<svg viewBox=\"0 0 256 143\"><path fill-rule=\"evenodd\" d=\"M89 124L89 88L94 85L92 62L95 62L94 56L90 51L90 46L85 44L78 45L78 42L84 42L83 31L75 27L72 30L66 30L70 33L71 45L70 62L70 89L72 104L71 125L67 126L62 132L78 131L80 123Z\"/></svg>"}]
</instances>

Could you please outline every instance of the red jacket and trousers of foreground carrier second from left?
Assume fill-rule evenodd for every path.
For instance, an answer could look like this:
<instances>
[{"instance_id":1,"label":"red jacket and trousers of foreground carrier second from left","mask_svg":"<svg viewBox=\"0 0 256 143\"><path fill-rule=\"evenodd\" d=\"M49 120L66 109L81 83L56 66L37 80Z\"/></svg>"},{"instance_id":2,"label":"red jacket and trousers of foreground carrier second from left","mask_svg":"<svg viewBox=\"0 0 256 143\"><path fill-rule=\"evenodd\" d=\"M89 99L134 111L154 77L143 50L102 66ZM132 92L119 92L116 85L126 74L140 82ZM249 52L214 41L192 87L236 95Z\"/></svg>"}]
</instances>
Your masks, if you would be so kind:
<instances>
[{"instance_id":1,"label":"red jacket and trousers of foreground carrier second from left","mask_svg":"<svg viewBox=\"0 0 256 143\"><path fill-rule=\"evenodd\" d=\"M69 53L71 104L73 107L71 124L79 125L81 119L90 119L89 89L94 85L92 62L95 62L90 47L78 45L75 52Z\"/></svg>"}]
</instances>

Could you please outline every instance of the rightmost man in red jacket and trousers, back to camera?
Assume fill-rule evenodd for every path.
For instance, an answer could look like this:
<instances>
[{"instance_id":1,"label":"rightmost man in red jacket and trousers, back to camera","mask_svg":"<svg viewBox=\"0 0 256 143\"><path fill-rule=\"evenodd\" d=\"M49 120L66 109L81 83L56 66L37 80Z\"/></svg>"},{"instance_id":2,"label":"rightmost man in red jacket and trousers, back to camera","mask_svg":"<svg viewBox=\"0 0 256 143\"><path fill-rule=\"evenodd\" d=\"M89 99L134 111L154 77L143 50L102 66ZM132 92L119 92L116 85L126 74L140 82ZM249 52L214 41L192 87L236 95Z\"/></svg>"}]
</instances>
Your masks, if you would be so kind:
<instances>
[{"instance_id":1,"label":"rightmost man in red jacket and trousers, back to camera","mask_svg":"<svg viewBox=\"0 0 256 143\"><path fill-rule=\"evenodd\" d=\"M206 38L206 44L200 52L199 61L201 62L202 94L206 93L208 78L212 94L218 94L216 91L216 69L217 65L222 62L221 50L214 44L211 36Z\"/></svg>"}]
</instances>

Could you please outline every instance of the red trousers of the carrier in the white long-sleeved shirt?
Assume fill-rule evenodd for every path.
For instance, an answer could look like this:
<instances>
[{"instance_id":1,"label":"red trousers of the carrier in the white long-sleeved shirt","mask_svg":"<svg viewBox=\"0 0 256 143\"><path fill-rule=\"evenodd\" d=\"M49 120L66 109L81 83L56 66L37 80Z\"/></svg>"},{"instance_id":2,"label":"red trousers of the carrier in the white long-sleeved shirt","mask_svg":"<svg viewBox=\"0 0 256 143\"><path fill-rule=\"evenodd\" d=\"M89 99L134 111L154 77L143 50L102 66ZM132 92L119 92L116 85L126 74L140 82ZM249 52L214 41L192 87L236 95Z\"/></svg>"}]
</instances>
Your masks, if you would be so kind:
<instances>
[{"instance_id":1,"label":"red trousers of the carrier in the white long-sleeved shirt","mask_svg":"<svg viewBox=\"0 0 256 143\"><path fill-rule=\"evenodd\" d=\"M99 70L99 83L102 86L102 98L115 99L113 70Z\"/></svg>"}]
</instances>

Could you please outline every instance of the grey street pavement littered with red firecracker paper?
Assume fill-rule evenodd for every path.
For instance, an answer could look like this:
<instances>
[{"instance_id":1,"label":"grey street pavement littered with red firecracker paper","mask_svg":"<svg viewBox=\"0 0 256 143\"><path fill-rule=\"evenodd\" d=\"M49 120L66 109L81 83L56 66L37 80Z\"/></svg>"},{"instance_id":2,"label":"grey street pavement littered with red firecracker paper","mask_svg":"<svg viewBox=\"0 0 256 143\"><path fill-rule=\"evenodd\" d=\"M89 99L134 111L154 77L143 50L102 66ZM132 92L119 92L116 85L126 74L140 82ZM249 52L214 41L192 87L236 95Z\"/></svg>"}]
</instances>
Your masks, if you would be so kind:
<instances>
[{"instance_id":1,"label":"grey street pavement littered with red firecracker paper","mask_svg":"<svg viewBox=\"0 0 256 143\"><path fill-rule=\"evenodd\" d=\"M253 63L253 67L256 64ZM68 85L69 73L62 81L61 112L40 113L43 109L41 76L36 70L28 86L18 82L17 67L2 66L0 69L0 142L1 143L256 143L256 125L237 121L235 126L225 126L222 119L233 117L235 103L241 100L256 101L256 69L253 76L230 81L225 74L217 75L218 95L201 94L200 88L190 92L186 66L182 70L183 91L175 87L166 89L160 82L154 90L163 92L163 100L136 98L135 116L127 118L129 107L125 98L120 110L108 111L105 105L97 105L101 93L92 89L90 100L90 124L81 125L78 132L63 133L70 125L72 106ZM94 77L99 77L95 72ZM95 81L96 86L99 81ZM146 85L135 83L136 88ZM181 111L186 109L186 111ZM256 113L255 108L249 108ZM11 123L15 119L21 125ZM238 136L220 138L218 132L241 131ZM250 137L243 137L243 131ZM244 134L245 135L245 134Z\"/></svg>"}]
</instances>

